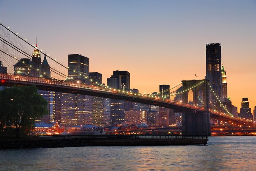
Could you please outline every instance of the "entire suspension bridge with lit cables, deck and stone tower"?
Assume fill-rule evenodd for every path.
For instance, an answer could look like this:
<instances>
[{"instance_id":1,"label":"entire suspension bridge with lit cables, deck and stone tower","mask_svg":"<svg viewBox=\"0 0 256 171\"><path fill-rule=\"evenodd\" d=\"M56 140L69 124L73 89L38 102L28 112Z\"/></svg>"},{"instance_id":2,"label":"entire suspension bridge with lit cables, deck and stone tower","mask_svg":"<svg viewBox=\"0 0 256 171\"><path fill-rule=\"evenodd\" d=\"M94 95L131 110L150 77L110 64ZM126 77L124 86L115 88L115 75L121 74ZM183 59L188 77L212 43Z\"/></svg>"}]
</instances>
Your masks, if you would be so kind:
<instances>
[{"instance_id":1,"label":"entire suspension bridge with lit cables, deck and stone tower","mask_svg":"<svg viewBox=\"0 0 256 171\"><path fill-rule=\"evenodd\" d=\"M33 57L31 54L33 54L33 51L35 55L39 53L45 54L45 59L47 59L49 63L50 76L47 75L47 72L43 69L39 70L38 68L35 68L33 64L27 63L26 60L24 60L32 60ZM69 67L66 67L64 64L58 62L58 60L38 49L37 44L30 44L26 39L18 35L18 33L15 33L1 23L0 61L7 67L6 73L0 73L0 86L35 85L41 90L127 100L130 102L139 102L174 109L175 111L183 113L182 132L184 134L210 135L210 118L215 118L221 122L232 122L236 126L243 125L243 127L255 127L255 124L252 122L234 118L219 100L220 98L215 95L213 89L209 86L208 80L183 80L182 83L175 85L171 89L165 90L171 91L182 84L181 90L171 91L168 95L182 95L182 102L163 98L161 92L149 95L133 93L122 89L114 89L99 84L94 80L89 80L87 76L82 76L79 71L70 70ZM19 61L23 62L26 69L37 73L37 75L31 76L16 73L13 66ZM41 64L43 64L43 62L41 62ZM79 82L79 80L69 77L67 73L83 77L83 79L87 81L86 83ZM193 91L194 94L193 105L188 104L188 93L190 90ZM199 90L203 92L202 99L197 96ZM218 109L211 109L209 105L209 93L216 96L220 106L226 111L225 113L218 111ZM197 106L198 101L202 102L202 107Z\"/></svg>"}]
</instances>

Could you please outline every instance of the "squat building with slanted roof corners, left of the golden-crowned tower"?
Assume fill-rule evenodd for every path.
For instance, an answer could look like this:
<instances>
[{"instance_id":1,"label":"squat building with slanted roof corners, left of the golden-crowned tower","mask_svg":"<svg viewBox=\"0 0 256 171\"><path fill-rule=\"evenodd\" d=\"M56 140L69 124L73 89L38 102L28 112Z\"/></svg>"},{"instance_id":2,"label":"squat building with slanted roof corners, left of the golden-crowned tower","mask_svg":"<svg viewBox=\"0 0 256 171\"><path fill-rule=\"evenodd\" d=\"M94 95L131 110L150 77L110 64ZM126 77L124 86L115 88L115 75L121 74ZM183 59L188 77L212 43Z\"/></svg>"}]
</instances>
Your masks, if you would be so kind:
<instances>
[{"instance_id":1,"label":"squat building with slanted roof corners, left of the golden-crowned tower","mask_svg":"<svg viewBox=\"0 0 256 171\"><path fill-rule=\"evenodd\" d=\"M14 74L29 76L31 72L31 61L27 58L21 58L14 66Z\"/></svg>"}]
</instances>

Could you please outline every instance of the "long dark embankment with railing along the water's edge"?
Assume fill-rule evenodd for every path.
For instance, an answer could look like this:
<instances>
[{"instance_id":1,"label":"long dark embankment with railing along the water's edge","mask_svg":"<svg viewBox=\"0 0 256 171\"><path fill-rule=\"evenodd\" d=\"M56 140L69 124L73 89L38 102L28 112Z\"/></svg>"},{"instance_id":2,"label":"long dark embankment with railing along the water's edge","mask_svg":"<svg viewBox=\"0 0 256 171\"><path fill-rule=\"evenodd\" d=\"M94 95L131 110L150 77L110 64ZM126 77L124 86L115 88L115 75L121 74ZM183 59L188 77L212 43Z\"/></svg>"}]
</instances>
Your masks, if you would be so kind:
<instances>
[{"instance_id":1,"label":"long dark embankment with railing along the water's edge","mask_svg":"<svg viewBox=\"0 0 256 171\"><path fill-rule=\"evenodd\" d=\"M138 146L207 144L207 136L170 135L79 135L72 137L36 137L22 140L1 140L0 149L84 147L84 146Z\"/></svg>"}]
</instances>

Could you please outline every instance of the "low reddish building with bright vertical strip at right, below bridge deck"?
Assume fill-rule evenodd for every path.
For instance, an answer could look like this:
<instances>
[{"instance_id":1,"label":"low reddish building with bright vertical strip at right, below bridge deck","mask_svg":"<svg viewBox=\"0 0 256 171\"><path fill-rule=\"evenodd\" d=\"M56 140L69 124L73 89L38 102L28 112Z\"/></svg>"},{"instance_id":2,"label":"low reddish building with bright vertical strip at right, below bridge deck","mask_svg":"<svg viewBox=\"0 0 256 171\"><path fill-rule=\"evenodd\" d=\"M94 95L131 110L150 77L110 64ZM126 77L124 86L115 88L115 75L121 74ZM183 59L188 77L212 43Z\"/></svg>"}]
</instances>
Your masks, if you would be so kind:
<instances>
[{"instance_id":1,"label":"low reddish building with bright vertical strip at right, below bridge deck","mask_svg":"<svg viewBox=\"0 0 256 171\"><path fill-rule=\"evenodd\" d=\"M125 119L132 124L141 124L147 122L147 111L125 111Z\"/></svg>"}]
</instances>

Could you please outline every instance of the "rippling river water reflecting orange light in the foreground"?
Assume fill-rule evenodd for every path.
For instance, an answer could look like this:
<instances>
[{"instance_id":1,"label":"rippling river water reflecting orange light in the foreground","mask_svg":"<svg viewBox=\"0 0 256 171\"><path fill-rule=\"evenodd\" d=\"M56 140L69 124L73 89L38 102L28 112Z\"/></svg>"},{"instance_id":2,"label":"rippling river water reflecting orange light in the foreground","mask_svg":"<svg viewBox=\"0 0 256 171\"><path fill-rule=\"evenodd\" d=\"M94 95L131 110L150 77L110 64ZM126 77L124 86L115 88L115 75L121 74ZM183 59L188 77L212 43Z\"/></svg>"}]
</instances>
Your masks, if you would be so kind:
<instances>
[{"instance_id":1,"label":"rippling river water reflecting orange light in the foreground","mask_svg":"<svg viewBox=\"0 0 256 171\"><path fill-rule=\"evenodd\" d=\"M209 137L207 146L0 150L0 170L256 170L256 136Z\"/></svg>"}]
</instances>

